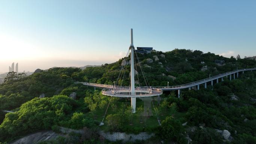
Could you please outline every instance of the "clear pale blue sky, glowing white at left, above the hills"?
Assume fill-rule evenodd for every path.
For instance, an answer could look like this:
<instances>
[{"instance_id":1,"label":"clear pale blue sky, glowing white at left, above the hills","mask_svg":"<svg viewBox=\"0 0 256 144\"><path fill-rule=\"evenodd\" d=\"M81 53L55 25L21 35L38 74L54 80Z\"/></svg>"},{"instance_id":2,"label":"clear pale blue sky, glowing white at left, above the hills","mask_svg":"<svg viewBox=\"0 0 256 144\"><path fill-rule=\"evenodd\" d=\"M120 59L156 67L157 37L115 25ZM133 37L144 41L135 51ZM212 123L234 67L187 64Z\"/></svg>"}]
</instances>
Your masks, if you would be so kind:
<instances>
[{"instance_id":1,"label":"clear pale blue sky, glowing white at left, above the hills","mask_svg":"<svg viewBox=\"0 0 256 144\"><path fill-rule=\"evenodd\" d=\"M0 72L115 62L134 45L256 55L256 1L1 0Z\"/></svg>"}]
</instances>

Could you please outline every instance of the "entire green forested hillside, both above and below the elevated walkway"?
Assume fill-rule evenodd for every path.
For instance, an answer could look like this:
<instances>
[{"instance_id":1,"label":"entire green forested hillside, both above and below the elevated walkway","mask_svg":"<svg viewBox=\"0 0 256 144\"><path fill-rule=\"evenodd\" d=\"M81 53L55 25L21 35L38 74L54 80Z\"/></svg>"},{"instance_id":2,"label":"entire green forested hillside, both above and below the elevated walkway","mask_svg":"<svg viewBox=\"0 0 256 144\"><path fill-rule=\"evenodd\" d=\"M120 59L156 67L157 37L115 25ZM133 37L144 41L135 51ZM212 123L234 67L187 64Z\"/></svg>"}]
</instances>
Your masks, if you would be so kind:
<instances>
[{"instance_id":1,"label":"entire green forested hillside, both above and below the elevated walkway","mask_svg":"<svg viewBox=\"0 0 256 144\"><path fill-rule=\"evenodd\" d=\"M137 55L135 70L138 78L135 80L140 82L140 86L145 83L139 65L143 67L150 86L167 86L167 82L169 86L185 84L236 69L256 67L255 59L240 56L225 58L199 50L175 49ZM224 61L219 64L215 60ZM112 64L87 67L84 70L51 68L31 76L9 73L5 82L0 85L0 142L10 142L40 130L58 131L58 126L63 126L91 129L95 133L94 137L76 142L84 144L101 143L96 134L99 129L156 134L154 138L141 143L173 141L186 144L188 137L192 144L256 143L255 71L240 74L239 79L232 81L224 79L215 84L213 90L211 86L198 91L182 90L181 98L177 98L175 92L163 94L160 105L153 101L155 112L161 120L159 126L155 115L143 117L143 102L140 99L137 99L137 103L141 107L137 107L137 113L131 114L129 99L113 98L110 101L110 97L101 95L100 91L75 83L79 81L113 85L123 66L124 79L116 83L129 86L130 65L127 64L129 58L127 61L122 58ZM73 92L76 97L69 98ZM109 102L106 125L99 127ZM13 113L6 114L3 110ZM182 123L186 125L183 126ZM223 140L216 129L228 130L232 139ZM56 140L49 143L60 142Z\"/></svg>"}]
</instances>

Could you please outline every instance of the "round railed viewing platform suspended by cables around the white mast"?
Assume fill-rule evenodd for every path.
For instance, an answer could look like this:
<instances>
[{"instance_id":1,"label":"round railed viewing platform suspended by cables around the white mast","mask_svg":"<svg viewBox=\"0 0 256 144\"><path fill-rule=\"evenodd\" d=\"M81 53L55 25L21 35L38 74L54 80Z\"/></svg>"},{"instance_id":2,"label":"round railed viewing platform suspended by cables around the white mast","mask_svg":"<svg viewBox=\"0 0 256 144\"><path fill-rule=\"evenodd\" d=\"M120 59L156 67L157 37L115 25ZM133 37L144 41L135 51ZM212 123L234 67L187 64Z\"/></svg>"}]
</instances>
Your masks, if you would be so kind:
<instances>
[{"instance_id":1,"label":"round railed viewing platform suspended by cables around the white mast","mask_svg":"<svg viewBox=\"0 0 256 144\"><path fill-rule=\"evenodd\" d=\"M150 97L163 94L161 89L152 88L135 88L135 94L131 94L131 88L113 88L113 89L103 89L101 91L103 95L115 96L115 97Z\"/></svg>"}]
</instances>

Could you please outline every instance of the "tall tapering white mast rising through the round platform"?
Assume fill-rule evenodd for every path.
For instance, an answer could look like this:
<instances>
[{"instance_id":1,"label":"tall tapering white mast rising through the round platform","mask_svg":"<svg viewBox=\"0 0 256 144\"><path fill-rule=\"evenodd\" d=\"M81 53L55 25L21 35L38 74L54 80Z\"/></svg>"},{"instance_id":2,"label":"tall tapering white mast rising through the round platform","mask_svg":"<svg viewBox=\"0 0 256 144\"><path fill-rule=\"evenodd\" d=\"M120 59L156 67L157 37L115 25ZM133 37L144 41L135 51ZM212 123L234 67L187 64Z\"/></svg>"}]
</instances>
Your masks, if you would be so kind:
<instances>
[{"instance_id":1,"label":"tall tapering white mast rising through the round platform","mask_svg":"<svg viewBox=\"0 0 256 144\"><path fill-rule=\"evenodd\" d=\"M135 95L135 86L134 86L134 46L133 46L133 36L132 36L132 28L131 28L131 46L129 48L131 50L131 95ZM131 107L132 113L136 112L136 98L131 97Z\"/></svg>"}]
</instances>

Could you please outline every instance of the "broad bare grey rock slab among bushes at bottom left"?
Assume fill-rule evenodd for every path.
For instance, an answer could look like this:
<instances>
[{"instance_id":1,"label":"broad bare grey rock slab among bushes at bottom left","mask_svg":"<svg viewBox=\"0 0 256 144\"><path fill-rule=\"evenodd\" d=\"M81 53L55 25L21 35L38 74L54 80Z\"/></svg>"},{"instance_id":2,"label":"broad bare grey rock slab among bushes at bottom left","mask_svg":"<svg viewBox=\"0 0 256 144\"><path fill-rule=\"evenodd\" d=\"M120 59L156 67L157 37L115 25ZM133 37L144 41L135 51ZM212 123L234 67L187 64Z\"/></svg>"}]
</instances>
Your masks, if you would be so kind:
<instances>
[{"instance_id":1,"label":"broad bare grey rock slab among bushes at bottom left","mask_svg":"<svg viewBox=\"0 0 256 144\"><path fill-rule=\"evenodd\" d=\"M53 131L42 131L42 132L30 134L30 135L20 138L18 140L15 140L15 141L11 142L10 144L37 144L37 143L45 141L45 140L54 140L59 136L64 137L65 135L57 134Z\"/></svg>"}]
</instances>

